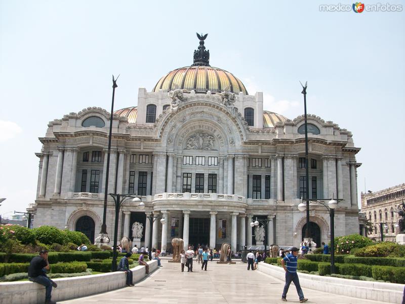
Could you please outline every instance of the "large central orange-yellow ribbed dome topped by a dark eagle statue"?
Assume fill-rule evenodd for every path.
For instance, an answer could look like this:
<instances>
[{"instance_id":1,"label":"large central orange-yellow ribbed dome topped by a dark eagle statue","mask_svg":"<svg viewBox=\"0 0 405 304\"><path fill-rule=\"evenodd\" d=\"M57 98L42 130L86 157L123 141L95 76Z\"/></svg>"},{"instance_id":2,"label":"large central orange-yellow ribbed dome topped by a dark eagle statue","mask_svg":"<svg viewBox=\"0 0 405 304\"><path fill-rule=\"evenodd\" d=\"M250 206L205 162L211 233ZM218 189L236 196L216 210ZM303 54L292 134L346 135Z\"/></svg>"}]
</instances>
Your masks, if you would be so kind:
<instances>
[{"instance_id":1,"label":"large central orange-yellow ribbed dome topped by a dark eagle statue","mask_svg":"<svg viewBox=\"0 0 405 304\"><path fill-rule=\"evenodd\" d=\"M206 50L204 46L207 35L197 33L199 46L198 50L194 50L194 63L167 73L157 82L152 90L153 92L186 89L189 91L194 90L196 93L231 91L235 94L243 92L248 95L244 84L234 77L232 73L210 66L210 51Z\"/></svg>"}]
</instances>

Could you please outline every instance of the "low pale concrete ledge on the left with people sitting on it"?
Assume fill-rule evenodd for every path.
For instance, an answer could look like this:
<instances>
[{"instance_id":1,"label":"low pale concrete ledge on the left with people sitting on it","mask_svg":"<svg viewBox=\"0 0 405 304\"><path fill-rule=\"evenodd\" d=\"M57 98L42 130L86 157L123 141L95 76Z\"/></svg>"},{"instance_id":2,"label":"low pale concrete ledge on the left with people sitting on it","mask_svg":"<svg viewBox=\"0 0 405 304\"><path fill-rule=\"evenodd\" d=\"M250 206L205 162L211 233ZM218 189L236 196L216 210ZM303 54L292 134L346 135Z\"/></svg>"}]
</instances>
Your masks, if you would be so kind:
<instances>
[{"instance_id":1,"label":"low pale concrete ledge on the left with people sitting on it","mask_svg":"<svg viewBox=\"0 0 405 304\"><path fill-rule=\"evenodd\" d=\"M149 273L157 269L157 260L148 262ZM131 269L133 282L146 277L145 266ZM125 272L54 279L58 288L52 289L52 300L62 301L75 297L111 291L126 286ZM0 304L36 304L45 301L45 287L33 282L0 283Z\"/></svg>"}]
</instances>

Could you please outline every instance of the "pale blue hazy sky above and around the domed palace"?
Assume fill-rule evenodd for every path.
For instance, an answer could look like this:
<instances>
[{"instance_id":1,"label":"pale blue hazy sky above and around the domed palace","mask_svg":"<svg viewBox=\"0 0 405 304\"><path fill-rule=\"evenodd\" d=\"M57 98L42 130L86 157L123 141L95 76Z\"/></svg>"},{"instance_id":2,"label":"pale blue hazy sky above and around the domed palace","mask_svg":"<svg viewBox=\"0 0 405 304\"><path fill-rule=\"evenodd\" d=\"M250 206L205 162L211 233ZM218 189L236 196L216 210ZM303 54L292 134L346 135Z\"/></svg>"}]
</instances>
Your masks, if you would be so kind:
<instances>
[{"instance_id":1,"label":"pale blue hazy sky above and around the domed palace","mask_svg":"<svg viewBox=\"0 0 405 304\"><path fill-rule=\"evenodd\" d=\"M109 110L112 73L115 109L136 105L139 87L192 63L196 31L209 33L211 65L262 91L267 110L302 115L308 81L308 113L361 147L359 192L405 182L405 13L319 11L338 3L0 0L0 214L34 202L49 121Z\"/></svg>"}]
</instances>

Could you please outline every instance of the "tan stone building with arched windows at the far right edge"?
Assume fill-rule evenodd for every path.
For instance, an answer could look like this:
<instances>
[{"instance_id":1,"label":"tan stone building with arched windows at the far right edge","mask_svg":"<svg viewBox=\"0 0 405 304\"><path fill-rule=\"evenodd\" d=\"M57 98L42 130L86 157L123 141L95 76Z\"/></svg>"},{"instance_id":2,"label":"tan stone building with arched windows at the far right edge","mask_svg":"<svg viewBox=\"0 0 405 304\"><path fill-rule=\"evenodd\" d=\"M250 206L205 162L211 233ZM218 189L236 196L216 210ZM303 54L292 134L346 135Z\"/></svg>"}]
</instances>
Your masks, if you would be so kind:
<instances>
[{"instance_id":1,"label":"tan stone building with arched windows at the far right edge","mask_svg":"<svg viewBox=\"0 0 405 304\"><path fill-rule=\"evenodd\" d=\"M373 224L373 231L368 231L369 238L395 241L400 216L395 210L401 209L405 200L405 183L378 192L361 193L361 213ZM382 230L381 230L382 226Z\"/></svg>"}]
</instances>

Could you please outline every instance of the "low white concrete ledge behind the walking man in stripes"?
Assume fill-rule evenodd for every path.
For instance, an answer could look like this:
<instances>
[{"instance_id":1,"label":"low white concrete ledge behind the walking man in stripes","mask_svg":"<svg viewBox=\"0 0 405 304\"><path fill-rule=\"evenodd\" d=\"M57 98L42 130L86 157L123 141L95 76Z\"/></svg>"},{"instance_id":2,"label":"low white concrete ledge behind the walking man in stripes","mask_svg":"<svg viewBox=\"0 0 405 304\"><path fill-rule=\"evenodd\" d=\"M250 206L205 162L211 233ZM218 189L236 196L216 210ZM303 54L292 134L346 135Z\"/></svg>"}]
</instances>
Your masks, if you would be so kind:
<instances>
[{"instance_id":1,"label":"low white concrete ledge behind the walking man in stripes","mask_svg":"<svg viewBox=\"0 0 405 304\"><path fill-rule=\"evenodd\" d=\"M285 281L286 274L281 267L260 262L257 269ZM380 302L402 302L402 284L359 281L303 273L298 273L298 276L301 287Z\"/></svg>"}]
</instances>

